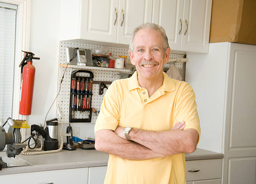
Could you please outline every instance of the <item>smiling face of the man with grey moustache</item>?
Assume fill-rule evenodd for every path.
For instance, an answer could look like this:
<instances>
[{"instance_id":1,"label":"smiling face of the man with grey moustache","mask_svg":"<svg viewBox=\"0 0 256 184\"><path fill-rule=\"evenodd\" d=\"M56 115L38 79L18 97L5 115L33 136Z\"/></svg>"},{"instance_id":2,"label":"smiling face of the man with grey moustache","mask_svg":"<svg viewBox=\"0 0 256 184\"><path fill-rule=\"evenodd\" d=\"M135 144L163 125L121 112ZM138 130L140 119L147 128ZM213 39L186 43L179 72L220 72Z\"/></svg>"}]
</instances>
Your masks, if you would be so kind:
<instances>
[{"instance_id":1,"label":"smiling face of the man with grey moustache","mask_svg":"<svg viewBox=\"0 0 256 184\"><path fill-rule=\"evenodd\" d=\"M170 48L164 54L161 33L148 28L139 30L133 38L133 48L129 55L131 63L136 66L138 79L163 78L163 68L169 60Z\"/></svg>"}]
</instances>

